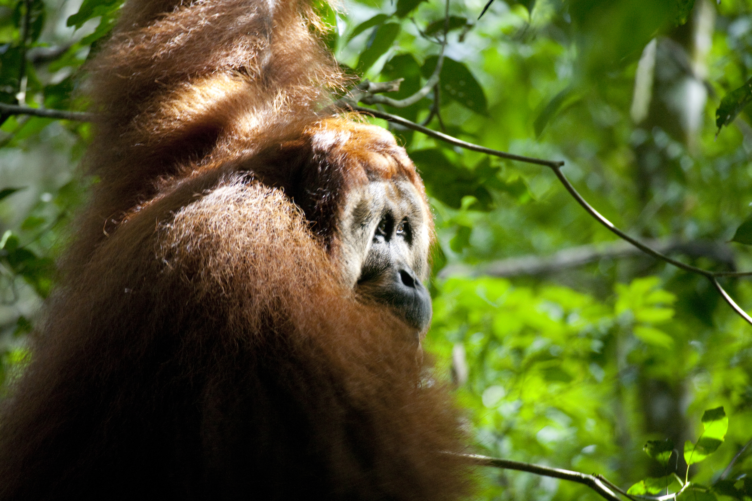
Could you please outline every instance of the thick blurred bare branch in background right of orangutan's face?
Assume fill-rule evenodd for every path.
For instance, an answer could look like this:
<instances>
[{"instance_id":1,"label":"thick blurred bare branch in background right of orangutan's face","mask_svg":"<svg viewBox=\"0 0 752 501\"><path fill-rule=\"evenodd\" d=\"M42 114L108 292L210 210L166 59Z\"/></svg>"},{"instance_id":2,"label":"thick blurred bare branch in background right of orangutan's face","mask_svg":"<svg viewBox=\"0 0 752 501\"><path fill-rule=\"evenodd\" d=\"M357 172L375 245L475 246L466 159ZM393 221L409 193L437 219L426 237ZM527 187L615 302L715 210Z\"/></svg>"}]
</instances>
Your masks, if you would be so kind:
<instances>
[{"instance_id":1,"label":"thick blurred bare branch in background right of orangutan's face","mask_svg":"<svg viewBox=\"0 0 752 501\"><path fill-rule=\"evenodd\" d=\"M715 261L732 264L733 255L729 247L723 242L708 242L696 240L683 242L675 239L648 240L647 246L662 254L686 254L692 257L707 256ZM571 247L554 252L552 255L523 255L516 258L500 259L478 266L450 264L438 273L440 278L447 276L498 276L508 278L512 276L541 275L556 273L570 268L601 259L628 258L644 255L641 249L624 240L614 240L586 246Z\"/></svg>"}]
</instances>

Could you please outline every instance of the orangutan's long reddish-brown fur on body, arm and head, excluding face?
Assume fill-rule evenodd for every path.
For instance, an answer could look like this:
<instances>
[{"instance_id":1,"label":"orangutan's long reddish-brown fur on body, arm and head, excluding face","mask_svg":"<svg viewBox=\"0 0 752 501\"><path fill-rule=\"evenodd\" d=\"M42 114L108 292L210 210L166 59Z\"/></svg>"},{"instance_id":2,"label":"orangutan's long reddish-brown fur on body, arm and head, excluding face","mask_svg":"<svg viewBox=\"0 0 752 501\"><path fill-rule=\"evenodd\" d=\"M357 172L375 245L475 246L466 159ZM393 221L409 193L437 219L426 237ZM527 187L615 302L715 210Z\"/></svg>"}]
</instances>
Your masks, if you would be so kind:
<instances>
[{"instance_id":1,"label":"orangutan's long reddish-brown fur on body, arm and head, excluding face","mask_svg":"<svg viewBox=\"0 0 752 501\"><path fill-rule=\"evenodd\" d=\"M100 181L0 416L0 499L464 491L414 332L338 261L349 190L422 185L393 140L326 112L344 79L311 25L302 0L273 20L258 0L123 8L89 65Z\"/></svg>"}]
</instances>

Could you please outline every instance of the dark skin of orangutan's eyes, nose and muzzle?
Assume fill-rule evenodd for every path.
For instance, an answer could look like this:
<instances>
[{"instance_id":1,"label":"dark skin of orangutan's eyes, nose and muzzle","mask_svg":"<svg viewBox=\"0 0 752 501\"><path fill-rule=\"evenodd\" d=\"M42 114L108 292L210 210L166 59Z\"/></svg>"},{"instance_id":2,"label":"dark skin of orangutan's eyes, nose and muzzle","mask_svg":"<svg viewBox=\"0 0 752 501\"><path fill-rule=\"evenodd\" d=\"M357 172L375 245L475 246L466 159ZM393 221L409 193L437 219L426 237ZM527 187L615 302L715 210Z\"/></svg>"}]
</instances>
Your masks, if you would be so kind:
<instances>
[{"instance_id":1,"label":"dark skin of orangutan's eyes, nose and muzzle","mask_svg":"<svg viewBox=\"0 0 752 501\"><path fill-rule=\"evenodd\" d=\"M431 321L431 296L410 265L413 228L408 218L381 217L363 262L357 288L390 306L405 322L424 332Z\"/></svg>"}]
</instances>

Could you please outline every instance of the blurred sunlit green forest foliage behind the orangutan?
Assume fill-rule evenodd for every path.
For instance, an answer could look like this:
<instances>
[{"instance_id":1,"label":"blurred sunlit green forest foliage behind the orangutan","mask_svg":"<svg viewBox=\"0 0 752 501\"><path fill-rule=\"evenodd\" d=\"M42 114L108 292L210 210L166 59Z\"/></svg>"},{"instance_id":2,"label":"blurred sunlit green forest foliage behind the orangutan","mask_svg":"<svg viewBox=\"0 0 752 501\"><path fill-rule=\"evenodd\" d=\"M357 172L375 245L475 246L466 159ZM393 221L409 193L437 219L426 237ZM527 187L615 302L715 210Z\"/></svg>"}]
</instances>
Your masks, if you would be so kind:
<instances>
[{"instance_id":1,"label":"blurred sunlit green forest foliage behind the orangutan","mask_svg":"<svg viewBox=\"0 0 752 501\"><path fill-rule=\"evenodd\" d=\"M0 0L0 102L84 110L77 69L121 3ZM380 109L564 160L577 189L630 235L709 270L752 270L752 237L744 225L737 232L752 213L752 0L495 0L478 19L484 6L450 0L438 87ZM326 43L353 74L404 78L390 97L408 97L434 71L443 2L321 10ZM0 120L0 367L9 379L23 370L71 213L96 180L75 170L85 122ZM478 451L628 487L666 474L641 451L647 440L681 448L702 431L702 411L723 406L726 441L689 472L717 482L752 439L752 328L712 285L614 240L547 168L373 121L393 130L426 182L438 246L425 345L451 374ZM723 285L752 310L748 279ZM672 461L684 478L684 459ZM750 496L750 471L744 451L728 476L741 483L725 495ZM499 469L479 472L478 484L479 499L597 496Z\"/></svg>"}]
</instances>

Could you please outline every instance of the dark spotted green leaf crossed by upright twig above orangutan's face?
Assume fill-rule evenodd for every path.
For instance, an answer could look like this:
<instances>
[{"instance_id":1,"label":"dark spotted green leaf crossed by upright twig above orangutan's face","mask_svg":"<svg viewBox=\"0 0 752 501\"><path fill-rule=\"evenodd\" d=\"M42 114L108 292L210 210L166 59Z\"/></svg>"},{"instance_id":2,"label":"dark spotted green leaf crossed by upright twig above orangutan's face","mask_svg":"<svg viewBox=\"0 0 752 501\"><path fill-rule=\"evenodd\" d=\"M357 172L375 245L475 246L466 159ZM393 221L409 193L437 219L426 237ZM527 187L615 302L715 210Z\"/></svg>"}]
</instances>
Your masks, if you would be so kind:
<instances>
[{"instance_id":1,"label":"dark spotted green leaf crossed by upright twig above orangutan's face","mask_svg":"<svg viewBox=\"0 0 752 501\"><path fill-rule=\"evenodd\" d=\"M437 62L438 56L426 58L423 68L420 68L423 77L429 78L433 74ZM478 80L475 80L467 66L454 59L444 57L439 78L442 99L457 101L462 106L481 115L487 113L486 95L481 84L478 83Z\"/></svg>"}]
</instances>

